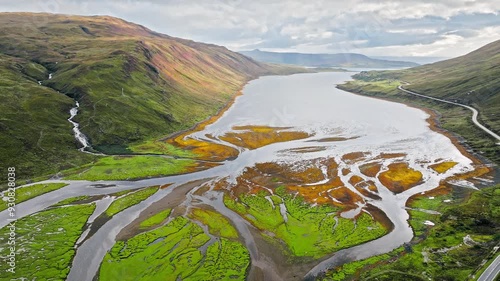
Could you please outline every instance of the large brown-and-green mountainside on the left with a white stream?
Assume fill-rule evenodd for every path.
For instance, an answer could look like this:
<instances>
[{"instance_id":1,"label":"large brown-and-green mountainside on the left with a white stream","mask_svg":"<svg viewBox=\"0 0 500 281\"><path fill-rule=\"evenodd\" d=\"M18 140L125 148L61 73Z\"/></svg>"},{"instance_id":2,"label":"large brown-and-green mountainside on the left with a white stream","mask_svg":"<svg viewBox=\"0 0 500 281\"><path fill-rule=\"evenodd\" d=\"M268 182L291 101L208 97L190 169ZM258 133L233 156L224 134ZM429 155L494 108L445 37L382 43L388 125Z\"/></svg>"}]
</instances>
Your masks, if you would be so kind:
<instances>
[{"instance_id":1,"label":"large brown-and-green mountainside on the left with a white stream","mask_svg":"<svg viewBox=\"0 0 500 281\"><path fill-rule=\"evenodd\" d=\"M93 157L76 150L75 101L81 131L109 152L191 127L260 75L304 71L109 16L1 13L0 26L0 168L23 176Z\"/></svg>"}]
</instances>

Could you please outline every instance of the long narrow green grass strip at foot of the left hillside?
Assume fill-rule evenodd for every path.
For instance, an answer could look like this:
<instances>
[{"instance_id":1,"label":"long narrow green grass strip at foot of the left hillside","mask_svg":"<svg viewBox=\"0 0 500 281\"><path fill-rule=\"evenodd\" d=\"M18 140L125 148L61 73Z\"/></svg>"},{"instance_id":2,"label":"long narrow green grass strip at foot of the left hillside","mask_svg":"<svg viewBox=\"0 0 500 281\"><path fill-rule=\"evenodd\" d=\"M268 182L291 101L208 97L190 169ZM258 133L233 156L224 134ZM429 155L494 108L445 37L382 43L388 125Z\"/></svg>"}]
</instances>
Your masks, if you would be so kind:
<instances>
[{"instance_id":1,"label":"long narrow green grass strip at foot of the left hillside","mask_svg":"<svg viewBox=\"0 0 500 281\"><path fill-rule=\"evenodd\" d=\"M195 163L162 156L108 156L64 174L70 180L136 180L185 173Z\"/></svg>"}]
</instances>

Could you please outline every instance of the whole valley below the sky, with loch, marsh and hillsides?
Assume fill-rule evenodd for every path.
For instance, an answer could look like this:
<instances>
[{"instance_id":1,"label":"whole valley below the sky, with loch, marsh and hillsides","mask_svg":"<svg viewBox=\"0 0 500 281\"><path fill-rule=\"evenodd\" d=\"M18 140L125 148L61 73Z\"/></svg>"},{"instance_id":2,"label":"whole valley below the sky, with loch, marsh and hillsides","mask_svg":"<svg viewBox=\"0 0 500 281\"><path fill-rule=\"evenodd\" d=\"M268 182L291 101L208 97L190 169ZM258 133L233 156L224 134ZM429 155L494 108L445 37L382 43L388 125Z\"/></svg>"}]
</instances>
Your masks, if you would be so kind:
<instances>
[{"instance_id":1,"label":"whole valley below the sky, with loch, marsh and hillsides","mask_svg":"<svg viewBox=\"0 0 500 281\"><path fill-rule=\"evenodd\" d=\"M494 278L500 41L418 66L0 25L0 281Z\"/></svg>"}]
</instances>

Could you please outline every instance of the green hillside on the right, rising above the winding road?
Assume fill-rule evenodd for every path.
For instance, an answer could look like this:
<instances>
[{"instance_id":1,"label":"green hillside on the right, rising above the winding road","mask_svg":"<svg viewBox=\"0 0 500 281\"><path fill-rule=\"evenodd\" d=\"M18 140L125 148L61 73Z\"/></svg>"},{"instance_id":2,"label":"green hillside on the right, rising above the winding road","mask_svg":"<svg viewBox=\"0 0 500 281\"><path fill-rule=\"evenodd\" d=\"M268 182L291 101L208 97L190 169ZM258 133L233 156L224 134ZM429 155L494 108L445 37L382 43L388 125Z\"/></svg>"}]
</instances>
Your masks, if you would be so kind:
<instances>
[{"instance_id":1,"label":"green hillside on the right, rising above the winding road","mask_svg":"<svg viewBox=\"0 0 500 281\"><path fill-rule=\"evenodd\" d=\"M363 72L355 78L402 80L413 91L473 105L480 119L500 132L500 40L454 59L400 71Z\"/></svg>"}]
</instances>

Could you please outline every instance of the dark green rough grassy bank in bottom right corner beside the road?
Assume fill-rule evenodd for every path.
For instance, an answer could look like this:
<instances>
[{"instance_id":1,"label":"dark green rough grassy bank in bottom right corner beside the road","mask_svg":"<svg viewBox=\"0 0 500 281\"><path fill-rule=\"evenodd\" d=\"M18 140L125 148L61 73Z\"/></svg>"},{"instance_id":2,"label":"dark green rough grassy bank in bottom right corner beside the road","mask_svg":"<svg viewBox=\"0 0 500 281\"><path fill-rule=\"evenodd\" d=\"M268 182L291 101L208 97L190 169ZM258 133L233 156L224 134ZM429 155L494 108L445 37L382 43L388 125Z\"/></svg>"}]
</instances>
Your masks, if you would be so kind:
<instances>
[{"instance_id":1,"label":"dark green rough grassy bank in bottom right corner beside the road","mask_svg":"<svg viewBox=\"0 0 500 281\"><path fill-rule=\"evenodd\" d=\"M457 194L458 193L458 194ZM435 199L419 197L412 208L440 211L442 215L412 212L410 224L423 225L433 220L436 225L414 228L416 236L411 247L343 265L329 271L320 280L470 280L481 272L483 259L491 259L491 250L500 241L500 186ZM442 200L464 196L460 202L444 204ZM439 202L439 203L438 203ZM466 235L475 241L465 245ZM484 267L483 267L484 269ZM339 279L340 277L344 279Z\"/></svg>"}]
</instances>

